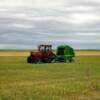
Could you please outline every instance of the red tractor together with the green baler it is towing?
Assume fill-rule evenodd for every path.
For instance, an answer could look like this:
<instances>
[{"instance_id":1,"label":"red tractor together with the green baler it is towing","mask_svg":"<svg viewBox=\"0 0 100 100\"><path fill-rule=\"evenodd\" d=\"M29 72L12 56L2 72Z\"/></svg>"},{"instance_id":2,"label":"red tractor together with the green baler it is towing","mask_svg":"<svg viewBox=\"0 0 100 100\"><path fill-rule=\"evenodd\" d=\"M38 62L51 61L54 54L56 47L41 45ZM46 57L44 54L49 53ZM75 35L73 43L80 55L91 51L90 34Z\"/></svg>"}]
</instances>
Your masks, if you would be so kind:
<instances>
[{"instance_id":1,"label":"red tractor together with the green baler it is towing","mask_svg":"<svg viewBox=\"0 0 100 100\"><path fill-rule=\"evenodd\" d=\"M56 54L52 51L52 45L39 45L38 51L31 51L27 58L28 63L51 63L51 62L72 62L75 56L73 48L67 45L58 46Z\"/></svg>"}]
</instances>

